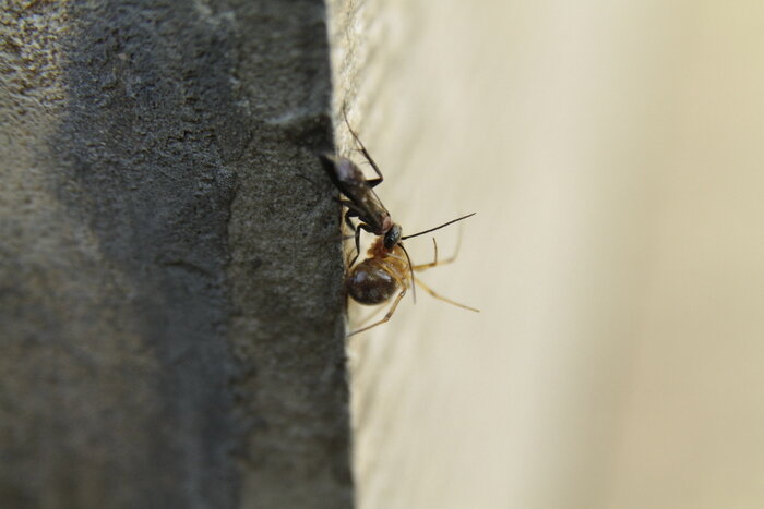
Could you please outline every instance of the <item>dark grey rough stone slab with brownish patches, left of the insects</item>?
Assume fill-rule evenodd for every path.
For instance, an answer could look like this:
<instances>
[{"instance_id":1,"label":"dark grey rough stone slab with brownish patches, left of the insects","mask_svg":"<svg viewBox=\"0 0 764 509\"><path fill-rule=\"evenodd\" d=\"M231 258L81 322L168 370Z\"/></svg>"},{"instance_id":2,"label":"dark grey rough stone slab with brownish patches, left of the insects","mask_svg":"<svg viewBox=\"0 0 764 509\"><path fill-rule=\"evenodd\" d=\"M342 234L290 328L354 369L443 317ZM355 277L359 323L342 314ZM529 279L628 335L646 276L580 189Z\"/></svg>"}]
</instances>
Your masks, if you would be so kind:
<instances>
[{"instance_id":1,"label":"dark grey rough stone slab with brownish patches, left of the insects","mask_svg":"<svg viewBox=\"0 0 764 509\"><path fill-rule=\"evenodd\" d=\"M323 2L2 3L0 506L349 507Z\"/></svg>"}]
</instances>

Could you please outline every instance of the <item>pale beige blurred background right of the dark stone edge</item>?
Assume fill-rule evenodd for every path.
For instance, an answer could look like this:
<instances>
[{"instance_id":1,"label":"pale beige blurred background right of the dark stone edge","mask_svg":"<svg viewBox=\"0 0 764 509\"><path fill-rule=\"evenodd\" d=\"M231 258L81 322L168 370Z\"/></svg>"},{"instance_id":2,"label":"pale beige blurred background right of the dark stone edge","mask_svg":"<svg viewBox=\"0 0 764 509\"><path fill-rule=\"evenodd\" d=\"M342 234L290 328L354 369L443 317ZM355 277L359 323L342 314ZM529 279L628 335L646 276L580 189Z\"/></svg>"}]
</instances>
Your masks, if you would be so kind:
<instances>
[{"instance_id":1,"label":"pale beige blurred background right of the dark stone edge","mask_svg":"<svg viewBox=\"0 0 764 509\"><path fill-rule=\"evenodd\" d=\"M482 312L350 341L359 506L764 507L764 2L333 12L394 218L478 213L422 279Z\"/></svg>"}]
</instances>

